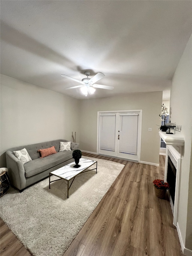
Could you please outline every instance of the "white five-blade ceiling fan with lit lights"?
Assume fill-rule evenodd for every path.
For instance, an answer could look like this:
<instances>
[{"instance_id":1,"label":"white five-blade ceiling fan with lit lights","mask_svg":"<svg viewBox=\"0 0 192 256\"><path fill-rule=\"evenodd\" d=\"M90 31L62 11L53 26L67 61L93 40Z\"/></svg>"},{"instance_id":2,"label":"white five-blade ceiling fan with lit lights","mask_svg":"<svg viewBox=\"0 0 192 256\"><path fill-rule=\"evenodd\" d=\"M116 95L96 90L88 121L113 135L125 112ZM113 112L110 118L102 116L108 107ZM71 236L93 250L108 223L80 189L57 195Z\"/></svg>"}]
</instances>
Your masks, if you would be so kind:
<instances>
[{"instance_id":1,"label":"white five-blade ceiling fan with lit lights","mask_svg":"<svg viewBox=\"0 0 192 256\"><path fill-rule=\"evenodd\" d=\"M98 80L100 80L101 78L103 78L105 75L103 73L97 73L94 77L89 78L88 76L91 74L90 71L85 71L85 75L87 76L86 78L83 78L81 81L77 80L73 77L69 77L66 75L61 75L61 77L66 77L68 79L71 79L73 81L76 81L78 83L81 83L80 85L77 86L73 86L73 87L68 87L65 89L73 89L73 88L78 88L78 87L82 87L81 91L83 94L85 94L85 96L87 96L87 93L89 94L94 94L95 92L95 88L101 88L101 89L107 89L107 90L113 90L114 87L113 86L107 86L107 85L101 85L101 84L95 84Z\"/></svg>"}]
</instances>

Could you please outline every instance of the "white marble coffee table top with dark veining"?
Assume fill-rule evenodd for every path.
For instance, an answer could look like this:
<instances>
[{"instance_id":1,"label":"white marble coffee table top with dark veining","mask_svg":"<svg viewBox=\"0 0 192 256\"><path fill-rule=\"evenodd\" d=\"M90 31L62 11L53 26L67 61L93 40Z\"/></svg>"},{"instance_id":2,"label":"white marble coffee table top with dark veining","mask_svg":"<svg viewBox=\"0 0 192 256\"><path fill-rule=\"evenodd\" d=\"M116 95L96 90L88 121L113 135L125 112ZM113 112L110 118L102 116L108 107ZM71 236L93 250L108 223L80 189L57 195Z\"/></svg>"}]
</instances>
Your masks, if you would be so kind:
<instances>
[{"instance_id":1,"label":"white marble coffee table top with dark veining","mask_svg":"<svg viewBox=\"0 0 192 256\"><path fill-rule=\"evenodd\" d=\"M55 171L52 171L51 174L58 176L62 179L70 180L77 174L81 173L83 170L90 167L92 164L95 164L97 161L80 158L79 159L79 168L74 168L75 162L72 162L70 164L67 164Z\"/></svg>"}]
</instances>

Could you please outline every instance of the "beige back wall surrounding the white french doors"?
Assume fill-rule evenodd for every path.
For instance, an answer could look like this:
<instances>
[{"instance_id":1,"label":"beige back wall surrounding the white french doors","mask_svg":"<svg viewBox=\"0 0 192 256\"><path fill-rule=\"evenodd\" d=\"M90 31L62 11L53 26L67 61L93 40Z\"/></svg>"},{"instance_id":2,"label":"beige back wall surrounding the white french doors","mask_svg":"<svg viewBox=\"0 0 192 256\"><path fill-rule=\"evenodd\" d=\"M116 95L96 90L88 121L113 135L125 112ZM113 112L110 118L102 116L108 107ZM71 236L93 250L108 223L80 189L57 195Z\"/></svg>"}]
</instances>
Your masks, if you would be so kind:
<instances>
[{"instance_id":1,"label":"beige back wall surrounding the white french doors","mask_svg":"<svg viewBox=\"0 0 192 256\"><path fill-rule=\"evenodd\" d=\"M109 98L85 99L81 104L80 144L81 149L97 152L97 115L107 110L143 110L141 161L159 164L162 92L149 92L115 96ZM152 128L152 131L148 131Z\"/></svg>"}]
</instances>

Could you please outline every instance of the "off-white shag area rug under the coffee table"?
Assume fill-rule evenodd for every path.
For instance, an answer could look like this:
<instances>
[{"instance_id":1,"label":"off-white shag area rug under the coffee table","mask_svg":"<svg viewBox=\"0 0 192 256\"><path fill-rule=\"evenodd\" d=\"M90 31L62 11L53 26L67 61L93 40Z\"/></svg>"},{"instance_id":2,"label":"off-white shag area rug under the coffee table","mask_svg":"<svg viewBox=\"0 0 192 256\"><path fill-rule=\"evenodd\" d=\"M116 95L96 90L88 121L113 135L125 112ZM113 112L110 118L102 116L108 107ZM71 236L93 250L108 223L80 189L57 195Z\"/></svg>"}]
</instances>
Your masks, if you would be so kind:
<instances>
[{"instance_id":1,"label":"off-white shag area rug under the coffee table","mask_svg":"<svg viewBox=\"0 0 192 256\"><path fill-rule=\"evenodd\" d=\"M2 220L34 256L62 256L124 167L83 158L98 161L98 173L79 174L68 199L67 182L52 182L49 189L49 178L22 193L10 188L1 197ZM51 176L53 179L58 177Z\"/></svg>"}]
</instances>

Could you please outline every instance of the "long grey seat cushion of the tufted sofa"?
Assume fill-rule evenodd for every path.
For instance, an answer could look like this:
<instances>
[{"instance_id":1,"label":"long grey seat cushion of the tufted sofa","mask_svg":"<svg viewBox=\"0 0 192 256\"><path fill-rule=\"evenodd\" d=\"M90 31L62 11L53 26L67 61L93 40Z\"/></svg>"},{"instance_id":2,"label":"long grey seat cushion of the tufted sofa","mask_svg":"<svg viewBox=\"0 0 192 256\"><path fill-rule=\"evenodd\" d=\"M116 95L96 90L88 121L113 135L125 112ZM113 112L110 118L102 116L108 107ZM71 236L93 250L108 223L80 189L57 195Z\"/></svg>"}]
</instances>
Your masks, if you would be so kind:
<instances>
[{"instance_id":1,"label":"long grey seat cushion of the tufted sofa","mask_svg":"<svg viewBox=\"0 0 192 256\"><path fill-rule=\"evenodd\" d=\"M48 155L44 158L34 159L24 165L26 177L31 177L37 173L41 173L44 170L61 164L72 158L73 151L63 151L56 154ZM56 169L55 169L56 170Z\"/></svg>"}]
</instances>

